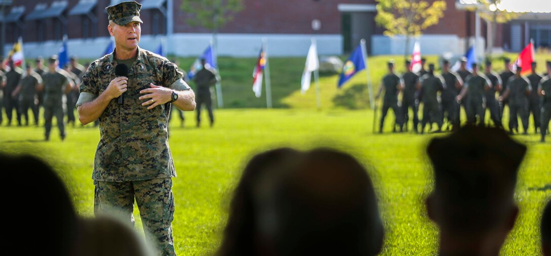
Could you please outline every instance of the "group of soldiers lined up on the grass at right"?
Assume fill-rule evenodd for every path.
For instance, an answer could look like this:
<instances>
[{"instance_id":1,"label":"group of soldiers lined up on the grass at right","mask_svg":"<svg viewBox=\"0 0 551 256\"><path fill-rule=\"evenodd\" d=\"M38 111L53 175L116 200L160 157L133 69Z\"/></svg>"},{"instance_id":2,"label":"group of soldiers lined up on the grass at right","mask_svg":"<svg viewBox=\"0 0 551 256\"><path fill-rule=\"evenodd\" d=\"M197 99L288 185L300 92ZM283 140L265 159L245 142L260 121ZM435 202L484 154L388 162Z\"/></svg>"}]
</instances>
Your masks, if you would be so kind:
<instances>
[{"instance_id":1,"label":"group of soldiers lined up on the grass at right","mask_svg":"<svg viewBox=\"0 0 551 256\"><path fill-rule=\"evenodd\" d=\"M550 61L545 63L547 73L544 75L536 72L536 62L531 63L532 71L528 76L521 74L520 66L513 73L510 59L507 58L504 59L505 70L501 74L493 71L490 60L484 63L484 68L473 63L470 66L472 71L469 71L467 59L463 57L457 73L451 71L449 60L443 60L440 74L435 74L434 64L429 64L426 70L425 59L421 63L420 71L414 73L410 68L410 61L406 60L406 72L401 76L395 73L395 63L392 60L387 63L388 73L383 77L375 96L379 99L385 91L379 123L380 133L383 132L385 118L390 109L395 114L393 132L408 131L409 116L412 113L413 131L424 133L459 129L462 109L466 113L467 124L503 127L503 110L507 105L510 134L522 131L526 135L529 118L532 116L534 131L541 134L542 142L545 141L551 116ZM422 112L421 115L419 112Z\"/></svg>"}]
</instances>

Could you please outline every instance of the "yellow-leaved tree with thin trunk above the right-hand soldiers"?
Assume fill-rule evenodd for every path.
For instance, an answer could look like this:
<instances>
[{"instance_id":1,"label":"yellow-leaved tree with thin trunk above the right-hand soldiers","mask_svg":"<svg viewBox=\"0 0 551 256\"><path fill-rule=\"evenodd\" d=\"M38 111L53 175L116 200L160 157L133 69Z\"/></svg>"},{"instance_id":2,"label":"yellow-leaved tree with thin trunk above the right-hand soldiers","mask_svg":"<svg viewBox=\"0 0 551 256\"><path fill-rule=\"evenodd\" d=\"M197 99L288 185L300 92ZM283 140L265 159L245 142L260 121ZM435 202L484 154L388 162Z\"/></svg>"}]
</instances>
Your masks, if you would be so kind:
<instances>
[{"instance_id":1,"label":"yellow-leaved tree with thin trunk above the right-hand soldiers","mask_svg":"<svg viewBox=\"0 0 551 256\"><path fill-rule=\"evenodd\" d=\"M433 4L423 0L376 1L378 3L375 21L385 27L383 34L390 37L406 36L405 57L408 55L409 38L418 37L426 28L438 24L446 10L444 0L434 1Z\"/></svg>"}]
</instances>

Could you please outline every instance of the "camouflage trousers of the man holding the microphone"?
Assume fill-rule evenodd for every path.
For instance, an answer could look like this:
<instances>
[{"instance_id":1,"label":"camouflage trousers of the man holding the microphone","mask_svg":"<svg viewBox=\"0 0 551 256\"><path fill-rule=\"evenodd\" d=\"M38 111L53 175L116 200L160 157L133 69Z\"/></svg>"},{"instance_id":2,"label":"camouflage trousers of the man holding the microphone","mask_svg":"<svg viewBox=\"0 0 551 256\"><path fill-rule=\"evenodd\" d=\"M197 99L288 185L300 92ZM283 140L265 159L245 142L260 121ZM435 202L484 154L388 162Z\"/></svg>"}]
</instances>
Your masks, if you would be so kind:
<instances>
[{"instance_id":1,"label":"camouflage trousers of the man holding the microphone","mask_svg":"<svg viewBox=\"0 0 551 256\"><path fill-rule=\"evenodd\" d=\"M115 215L133 225L135 198L147 242L158 250L159 255L176 255L171 226L174 220L172 179L94 181L94 186L95 215Z\"/></svg>"}]
</instances>

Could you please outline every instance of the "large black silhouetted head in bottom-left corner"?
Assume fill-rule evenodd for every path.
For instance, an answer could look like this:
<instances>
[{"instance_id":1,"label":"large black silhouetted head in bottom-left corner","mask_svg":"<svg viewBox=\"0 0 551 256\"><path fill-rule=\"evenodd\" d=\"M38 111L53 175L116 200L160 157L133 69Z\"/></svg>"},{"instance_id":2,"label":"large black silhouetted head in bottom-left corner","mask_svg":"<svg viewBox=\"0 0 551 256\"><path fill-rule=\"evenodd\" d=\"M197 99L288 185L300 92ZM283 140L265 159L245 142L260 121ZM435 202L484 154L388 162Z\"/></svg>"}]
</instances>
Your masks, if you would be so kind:
<instances>
[{"instance_id":1,"label":"large black silhouetted head in bottom-left corner","mask_svg":"<svg viewBox=\"0 0 551 256\"><path fill-rule=\"evenodd\" d=\"M77 215L61 179L48 164L29 155L0 154L0 163L3 178L15 186L3 193L4 249L25 255L70 255ZM10 225L15 228L6 227Z\"/></svg>"}]
</instances>

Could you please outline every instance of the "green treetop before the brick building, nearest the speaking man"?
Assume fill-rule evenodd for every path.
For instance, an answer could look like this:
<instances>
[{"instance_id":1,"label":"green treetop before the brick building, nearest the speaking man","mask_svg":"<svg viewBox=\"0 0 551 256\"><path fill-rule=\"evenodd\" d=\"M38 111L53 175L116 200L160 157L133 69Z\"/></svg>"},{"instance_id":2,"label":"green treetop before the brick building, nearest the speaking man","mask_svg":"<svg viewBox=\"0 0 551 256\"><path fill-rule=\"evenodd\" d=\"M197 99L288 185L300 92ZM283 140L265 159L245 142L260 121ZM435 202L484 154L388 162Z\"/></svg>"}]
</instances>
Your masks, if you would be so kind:
<instances>
[{"instance_id":1,"label":"green treetop before the brick building, nearest the speaking man","mask_svg":"<svg viewBox=\"0 0 551 256\"><path fill-rule=\"evenodd\" d=\"M242 0L185 0L181 5L181 9L189 14L188 24L209 29L214 37L243 7Z\"/></svg>"}]
</instances>

